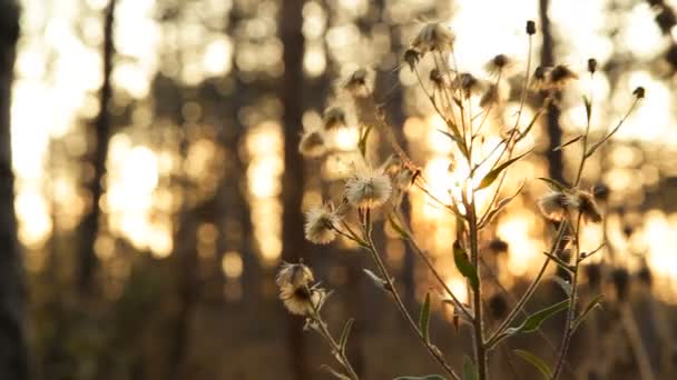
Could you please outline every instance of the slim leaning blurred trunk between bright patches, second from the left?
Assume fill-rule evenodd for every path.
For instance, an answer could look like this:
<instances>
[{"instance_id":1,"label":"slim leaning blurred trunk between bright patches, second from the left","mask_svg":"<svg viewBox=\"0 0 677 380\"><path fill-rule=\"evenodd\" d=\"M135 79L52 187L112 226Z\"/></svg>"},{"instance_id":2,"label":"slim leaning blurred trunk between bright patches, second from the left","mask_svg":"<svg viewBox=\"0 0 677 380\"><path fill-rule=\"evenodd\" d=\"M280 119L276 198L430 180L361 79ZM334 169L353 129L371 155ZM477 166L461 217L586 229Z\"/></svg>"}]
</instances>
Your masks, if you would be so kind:
<instances>
[{"instance_id":1,"label":"slim leaning blurred trunk between bright patches, second from the left","mask_svg":"<svg viewBox=\"0 0 677 380\"><path fill-rule=\"evenodd\" d=\"M108 140L110 138L110 113L108 104L112 97L112 87L110 83L110 73L112 71L112 56L115 53L112 46L112 24L115 21L116 0L110 0L106 8L104 20L104 44L102 44L102 61L104 61L104 83L101 84L99 114L95 121L96 150L94 152L94 177L88 183L91 194L91 204L89 212L85 216L80 223L80 247L78 258L77 286L78 291L82 296L90 296L95 292L94 277L97 266L97 257L94 249L97 234L99 231L99 217L101 208L99 202L104 193L104 177L106 174L106 158L108 157Z\"/></svg>"}]
</instances>

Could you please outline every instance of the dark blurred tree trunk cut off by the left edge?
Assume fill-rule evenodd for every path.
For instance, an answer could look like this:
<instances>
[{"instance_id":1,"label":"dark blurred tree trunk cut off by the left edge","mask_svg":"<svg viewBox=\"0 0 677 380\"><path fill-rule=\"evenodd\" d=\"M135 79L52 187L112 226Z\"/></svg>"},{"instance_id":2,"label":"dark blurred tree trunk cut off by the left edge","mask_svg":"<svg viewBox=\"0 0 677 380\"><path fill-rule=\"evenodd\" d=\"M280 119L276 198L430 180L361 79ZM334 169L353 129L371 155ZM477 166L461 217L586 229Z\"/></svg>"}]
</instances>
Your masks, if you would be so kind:
<instances>
[{"instance_id":1,"label":"dark blurred tree trunk cut off by the left edge","mask_svg":"<svg viewBox=\"0 0 677 380\"><path fill-rule=\"evenodd\" d=\"M19 7L0 0L0 379L28 378L26 290L14 214L10 102L19 38Z\"/></svg>"}]
</instances>

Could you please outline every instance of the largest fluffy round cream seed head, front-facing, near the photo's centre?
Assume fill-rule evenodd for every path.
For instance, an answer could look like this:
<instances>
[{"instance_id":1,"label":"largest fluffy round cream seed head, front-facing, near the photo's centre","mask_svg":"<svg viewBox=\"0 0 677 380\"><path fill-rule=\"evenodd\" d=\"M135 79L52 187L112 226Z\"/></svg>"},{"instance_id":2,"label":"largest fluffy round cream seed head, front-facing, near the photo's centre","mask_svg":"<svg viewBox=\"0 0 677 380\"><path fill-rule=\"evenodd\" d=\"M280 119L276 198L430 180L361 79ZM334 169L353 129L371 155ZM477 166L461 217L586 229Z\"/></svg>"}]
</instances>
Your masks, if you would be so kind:
<instances>
[{"instance_id":1,"label":"largest fluffy round cream seed head, front-facing, near the photo's centre","mask_svg":"<svg viewBox=\"0 0 677 380\"><path fill-rule=\"evenodd\" d=\"M392 184L383 169L365 168L345 183L345 198L353 207L374 208L390 198Z\"/></svg>"}]
</instances>

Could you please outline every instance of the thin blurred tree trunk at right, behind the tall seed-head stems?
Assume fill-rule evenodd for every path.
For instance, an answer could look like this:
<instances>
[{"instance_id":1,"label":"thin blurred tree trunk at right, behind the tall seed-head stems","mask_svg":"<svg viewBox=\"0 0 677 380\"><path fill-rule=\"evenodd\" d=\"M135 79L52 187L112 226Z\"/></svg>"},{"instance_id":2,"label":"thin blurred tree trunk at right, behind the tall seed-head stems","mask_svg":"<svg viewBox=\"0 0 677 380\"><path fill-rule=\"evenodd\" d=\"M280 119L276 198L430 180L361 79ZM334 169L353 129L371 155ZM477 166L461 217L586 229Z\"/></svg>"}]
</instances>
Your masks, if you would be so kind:
<instances>
[{"instance_id":1,"label":"thin blurred tree trunk at right, behind the tall seed-head stems","mask_svg":"<svg viewBox=\"0 0 677 380\"><path fill-rule=\"evenodd\" d=\"M555 64L555 40L552 38L552 30L550 24L550 17L548 16L548 9L550 0L539 0L539 12L541 20L541 31L543 33L543 44L541 47L541 66L553 66ZM560 93L555 94L556 99L559 100ZM548 164L550 178L565 182L563 170L565 163L562 159L562 150L555 150L562 143L562 130L559 126L559 116L561 110L557 101L551 102L548 106L548 119L547 130L550 139L548 147Z\"/></svg>"}]
</instances>

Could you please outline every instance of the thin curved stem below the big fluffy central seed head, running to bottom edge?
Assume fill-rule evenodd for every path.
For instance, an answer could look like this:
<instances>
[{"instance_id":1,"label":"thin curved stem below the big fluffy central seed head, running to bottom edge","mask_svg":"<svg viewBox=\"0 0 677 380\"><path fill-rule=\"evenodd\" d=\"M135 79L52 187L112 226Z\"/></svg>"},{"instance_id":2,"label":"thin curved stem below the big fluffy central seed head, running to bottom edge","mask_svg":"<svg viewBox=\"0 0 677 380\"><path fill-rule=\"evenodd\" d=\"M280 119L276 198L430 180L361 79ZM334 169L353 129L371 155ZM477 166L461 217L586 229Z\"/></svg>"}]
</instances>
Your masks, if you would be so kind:
<instances>
[{"instance_id":1,"label":"thin curved stem below the big fluffy central seed head, running to bottom edge","mask_svg":"<svg viewBox=\"0 0 677 380\"><path fill-rule=\"evenodd\" d=\"M372 258L374 259L374 262L376 263L376 267L379 267L379 271L381 272L381 277L386 282L387 289L393 294L393 299L395 300L395 304L396 304L398 309L400 310L400 312L402 313L402 316L404 317L404 319L406 320L408 324L410 326L410 328L412 329L412 331L414 332L414 334L419 338L419 340L421 341L421 343L425 347L425 349L428 350L428 352L430 353L430 356L433 357L433 359L435 359L435 361L438 361L438 363L440 364L440 367L442 367L442 369L449 376L451 376L454 380L461 380L461 378L453 371L453 369L451 369L451 367L449 367L449 364L444 360L444 357L442 356L442 352L440 352L440 350L436 347L432 346L429 341L425 340L425 337L423 337L423 333L419 329L416 322L413 320L413 318L411 317L411 314L406 310L406 307L404 306L404 302L402 301L402 298L401 298L400 293L395 289L395 286L393 283L392 277L390 276L390 273L387 271L387 268L383 263L383 260L381 259L381 254L379 254L379 251L376 249L376 244L374 244L374 241L373 241L372 236L371 236L371 227L366 227L365 226L364 230L365 231L370 231L370 233L367 233L366 237L365 237L365 240L369 243L369 247L366 247L365 249L371 253Z\"/></svg>"}]
</instances>

